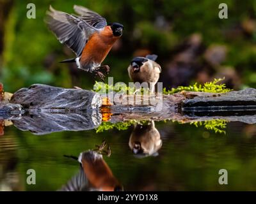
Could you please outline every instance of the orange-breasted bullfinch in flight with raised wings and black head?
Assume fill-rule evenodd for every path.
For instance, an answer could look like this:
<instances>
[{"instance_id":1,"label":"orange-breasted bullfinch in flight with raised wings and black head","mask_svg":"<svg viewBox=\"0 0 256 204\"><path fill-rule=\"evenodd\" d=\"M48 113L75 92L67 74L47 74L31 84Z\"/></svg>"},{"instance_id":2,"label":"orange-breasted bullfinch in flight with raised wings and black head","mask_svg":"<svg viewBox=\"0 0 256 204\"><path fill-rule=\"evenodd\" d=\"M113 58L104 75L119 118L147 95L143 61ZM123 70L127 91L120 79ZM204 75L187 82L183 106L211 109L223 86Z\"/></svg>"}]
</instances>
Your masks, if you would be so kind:
<instances>
[{"instance_id":1,"label":"orange-breasted bullfinch in flight with raised wings and black head","mask_svg":"<svg viewBox=\"0 0 256 204\"><path fill-rule=\"evenodd\" d=\"M50 6L45 22L58 40L76 54L76 58L62 62L76 62L78 68L95 72L103 80L104 74L100 69L108 72L109 66L101 66L101 63L115 41L122 36L124 26L107 24L105 18L83 6L75 5L74 10L78 16L54 10Z\"/></svg>"}]
</instances>

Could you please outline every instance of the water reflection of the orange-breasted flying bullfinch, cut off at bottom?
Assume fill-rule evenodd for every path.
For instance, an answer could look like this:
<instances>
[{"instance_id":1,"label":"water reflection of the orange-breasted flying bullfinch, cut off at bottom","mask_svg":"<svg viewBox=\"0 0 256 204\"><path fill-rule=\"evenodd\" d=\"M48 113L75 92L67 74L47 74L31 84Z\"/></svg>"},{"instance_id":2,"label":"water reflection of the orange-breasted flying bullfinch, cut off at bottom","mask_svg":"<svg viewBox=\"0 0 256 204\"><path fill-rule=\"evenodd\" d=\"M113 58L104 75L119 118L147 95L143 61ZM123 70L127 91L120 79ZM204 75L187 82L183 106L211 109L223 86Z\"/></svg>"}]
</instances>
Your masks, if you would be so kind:
<instances>
[{"instance_id":1,"label":"water reflection of the orange-breasted flying bullfinch, cut off at bottom","mask_svg":"<svg viewBox=\"0 0 256 204\"><path fill-rule=\"evenodd\" d=\"M104 145L99 150L88 150L80 156L66 156L77 159L81 169L60 191L123 191L122 185L113 175L102 154ZM108 153L109 154L109 148Z\"/></svg>"}]
</instances>

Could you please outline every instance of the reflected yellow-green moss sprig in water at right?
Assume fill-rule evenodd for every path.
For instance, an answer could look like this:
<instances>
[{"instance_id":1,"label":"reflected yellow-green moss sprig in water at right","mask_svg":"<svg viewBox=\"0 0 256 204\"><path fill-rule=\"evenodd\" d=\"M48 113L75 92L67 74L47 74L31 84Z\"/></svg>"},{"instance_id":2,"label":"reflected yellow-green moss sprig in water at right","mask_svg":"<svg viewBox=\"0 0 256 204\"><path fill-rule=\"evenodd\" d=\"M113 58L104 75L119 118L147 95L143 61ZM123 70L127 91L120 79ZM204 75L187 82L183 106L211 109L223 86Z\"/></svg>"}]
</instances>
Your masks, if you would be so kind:
<instances>
[{"instance_id":1,"label":"reflected yellow-green moss sprig in water at right","mask_svg":"<svg viewBox=\"0 0 256 204\"><path fill-rule=\"evenodd\" d=\"M191 122L190 124L194 124L196 128L198 128L199 126L204 126L205 129L213 130L215 133L226 134L226 131L223 129L225 129L227 126L227 120L216 119L216 120L196 121L196 122Z\"/></svg>"}]
</instances>

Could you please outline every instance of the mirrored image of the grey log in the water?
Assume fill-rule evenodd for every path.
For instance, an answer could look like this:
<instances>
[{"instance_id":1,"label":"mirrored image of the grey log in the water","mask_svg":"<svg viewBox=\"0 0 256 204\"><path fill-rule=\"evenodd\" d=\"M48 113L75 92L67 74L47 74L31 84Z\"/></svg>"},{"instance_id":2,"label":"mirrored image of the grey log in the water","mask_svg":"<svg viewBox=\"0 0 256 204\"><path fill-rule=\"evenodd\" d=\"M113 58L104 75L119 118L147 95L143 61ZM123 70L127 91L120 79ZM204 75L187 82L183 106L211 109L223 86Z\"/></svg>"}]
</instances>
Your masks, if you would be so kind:
<instances>
[{"instance_id":1,"label":"mirrored image of the grey log in the water","mask_svg":"<svg viewBox=\"0 0 256 204\"><path fill-rule=\"evenodd\" d=\"M30 111L20 120L13 120L13 125L22 131L31 131L44 135L59 131L83 131L97 128L101 123L99 110L83 112Z\"/></svg>"}]
</instances>

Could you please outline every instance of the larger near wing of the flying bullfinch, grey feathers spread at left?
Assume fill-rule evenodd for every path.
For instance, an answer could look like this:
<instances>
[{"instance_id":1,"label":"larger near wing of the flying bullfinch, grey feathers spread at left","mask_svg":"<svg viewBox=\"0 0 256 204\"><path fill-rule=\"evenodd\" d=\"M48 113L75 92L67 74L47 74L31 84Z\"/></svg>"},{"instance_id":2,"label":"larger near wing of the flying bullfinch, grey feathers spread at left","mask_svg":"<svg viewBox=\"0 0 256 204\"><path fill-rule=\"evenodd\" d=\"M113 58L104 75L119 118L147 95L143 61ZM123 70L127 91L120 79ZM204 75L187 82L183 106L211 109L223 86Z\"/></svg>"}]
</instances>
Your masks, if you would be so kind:
<instances>
[{"instance_id":1,"label":"larger near wing of the flying bullfinch, grey feathers spread at left","mask_svg":"<svg viewBox=\"0 0 256 204\"><path fill-rule=\"evenodd\" d=\"M85 20L54 10L51 6L47 11L45 22L49 29L56 34L58 40L72 49L77 57L83 52L86 41L90 36L95 32L99 32L97 28L88 24Z\"/></svg>"}]
</instances>

